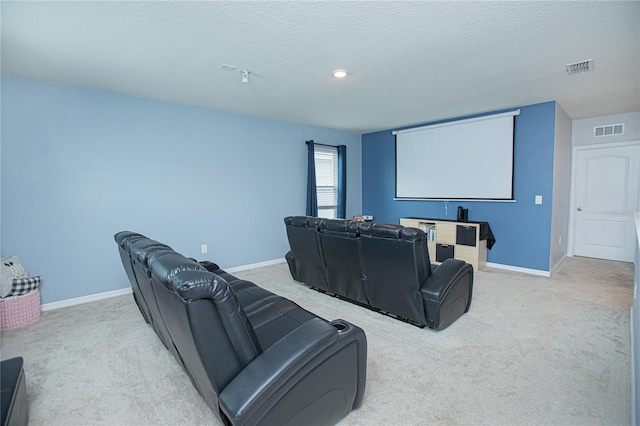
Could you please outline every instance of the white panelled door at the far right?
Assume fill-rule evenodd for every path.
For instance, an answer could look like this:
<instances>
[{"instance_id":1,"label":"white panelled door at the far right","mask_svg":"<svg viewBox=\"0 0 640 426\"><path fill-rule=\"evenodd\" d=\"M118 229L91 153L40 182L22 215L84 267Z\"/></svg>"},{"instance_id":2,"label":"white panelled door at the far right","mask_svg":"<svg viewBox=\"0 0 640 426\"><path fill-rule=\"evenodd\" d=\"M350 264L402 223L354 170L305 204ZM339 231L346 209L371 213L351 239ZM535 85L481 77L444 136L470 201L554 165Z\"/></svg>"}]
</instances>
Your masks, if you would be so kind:
<instances>
[{"instance_id":1,"label":"white panelled door at the far right","mask_svg":"<svg viewBox=\"0 0 640 426\"><path fill-rule=\"evenodd\" d=\"M633 262L640 144L576 151L576 256Z\"/></svg>"}]
</instances>

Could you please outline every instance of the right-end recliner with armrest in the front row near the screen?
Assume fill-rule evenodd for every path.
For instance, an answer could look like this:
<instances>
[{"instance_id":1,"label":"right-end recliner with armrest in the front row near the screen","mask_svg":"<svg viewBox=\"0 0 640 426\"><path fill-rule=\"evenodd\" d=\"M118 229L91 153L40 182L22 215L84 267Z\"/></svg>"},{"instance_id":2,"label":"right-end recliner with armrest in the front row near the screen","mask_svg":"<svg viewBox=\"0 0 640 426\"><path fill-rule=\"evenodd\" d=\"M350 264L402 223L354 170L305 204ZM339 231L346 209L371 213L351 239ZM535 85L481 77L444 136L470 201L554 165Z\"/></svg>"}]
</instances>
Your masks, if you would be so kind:
<instances>
[{"instance_id":1,"label":"right-end recliner with armrest in the front row near the screen","mask_svg":"<svg viewBox=\"0 0 640 426\"><path fill-rule=\"evenodd\" d=\"M437 330L469 310L471 265L447 259L434 268L420 229L369 223L359 227L372 306Z\"/></svg>"}]
</instances>

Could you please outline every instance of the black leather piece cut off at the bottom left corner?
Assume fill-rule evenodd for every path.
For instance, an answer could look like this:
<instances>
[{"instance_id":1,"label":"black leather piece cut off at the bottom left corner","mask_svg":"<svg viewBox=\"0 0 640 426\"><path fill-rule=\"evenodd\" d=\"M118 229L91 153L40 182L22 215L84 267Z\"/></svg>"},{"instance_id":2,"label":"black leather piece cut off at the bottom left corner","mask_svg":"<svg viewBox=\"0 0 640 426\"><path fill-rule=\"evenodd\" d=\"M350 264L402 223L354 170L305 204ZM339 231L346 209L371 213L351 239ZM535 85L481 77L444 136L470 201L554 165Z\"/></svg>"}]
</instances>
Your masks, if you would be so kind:
<instances>
[{"instance_id":1,"label":"black leather piece cut off at the bottom left corner","mask_svg":"<svg viewBox=\"0 0 640 426\"><path fill-rule=\"evenodd\" d=\"M29 401L22 357L0 362L0 388L2 426L26 426L29 423Z\"/></svg>"}]
</instances>

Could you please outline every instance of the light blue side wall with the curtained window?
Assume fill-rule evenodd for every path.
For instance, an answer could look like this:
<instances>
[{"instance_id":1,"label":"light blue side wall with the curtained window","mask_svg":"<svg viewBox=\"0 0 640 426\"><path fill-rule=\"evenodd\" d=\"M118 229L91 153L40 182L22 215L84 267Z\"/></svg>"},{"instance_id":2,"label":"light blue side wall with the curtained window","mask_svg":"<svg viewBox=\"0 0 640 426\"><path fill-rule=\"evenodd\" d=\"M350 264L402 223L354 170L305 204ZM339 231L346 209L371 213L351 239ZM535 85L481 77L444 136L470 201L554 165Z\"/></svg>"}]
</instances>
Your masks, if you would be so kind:
<instances>
[{"instance_id":1,"label":"light blue side wall with the curtained window","mask_svg":"<svg viewBox=\"0 0 640 426\"><path fill-rule=\"evenodd\" d=\"M129 286L122 230L226 268L282 258L308 139L347 146L362 211L356 133L6 75L1 96L1 251L42 275L43 303Z\"/></svg>"}]
</instances>

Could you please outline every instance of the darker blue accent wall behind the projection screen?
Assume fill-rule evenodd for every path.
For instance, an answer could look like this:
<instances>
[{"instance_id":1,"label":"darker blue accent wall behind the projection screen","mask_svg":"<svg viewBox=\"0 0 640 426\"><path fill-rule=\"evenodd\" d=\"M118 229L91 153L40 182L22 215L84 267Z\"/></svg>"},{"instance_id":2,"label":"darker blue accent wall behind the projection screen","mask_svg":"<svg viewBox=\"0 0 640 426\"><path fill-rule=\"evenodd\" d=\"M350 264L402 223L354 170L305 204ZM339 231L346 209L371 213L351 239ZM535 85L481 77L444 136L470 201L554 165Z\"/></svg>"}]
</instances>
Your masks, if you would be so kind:
<instances>
[{"instance_id":1,"label":"darker blue accent wall behind the projection screen","mask_svg":"<svg viewBox=\"0 0 640 426\"><path fill-rule=\"evenodd\" d=\"M503 111L491 114L498 112ZM446 121L453 120L417 126ZM445 210L444 201L394 200L395 137L392 130L399 129L362 136L363 214L373 215L376 222L390 223L399 223L400 218L406 216L455 219L457 207L463 206L469 209L469 220L486 221L491 225L496 244L487 253L488 262L549 271L555 102L520 107L520 115L515 119L515 203L449 201ZM430 161L438 159L425 158L425 167L429 167ZM482 173L482 164L474 170L456 170L452 164L451 173L464 173L468 179L473 179L475 174ZM542 195L541 205L534 203L536 195Z\"/></svg>"}]
</instances>

